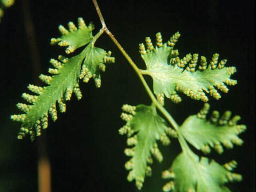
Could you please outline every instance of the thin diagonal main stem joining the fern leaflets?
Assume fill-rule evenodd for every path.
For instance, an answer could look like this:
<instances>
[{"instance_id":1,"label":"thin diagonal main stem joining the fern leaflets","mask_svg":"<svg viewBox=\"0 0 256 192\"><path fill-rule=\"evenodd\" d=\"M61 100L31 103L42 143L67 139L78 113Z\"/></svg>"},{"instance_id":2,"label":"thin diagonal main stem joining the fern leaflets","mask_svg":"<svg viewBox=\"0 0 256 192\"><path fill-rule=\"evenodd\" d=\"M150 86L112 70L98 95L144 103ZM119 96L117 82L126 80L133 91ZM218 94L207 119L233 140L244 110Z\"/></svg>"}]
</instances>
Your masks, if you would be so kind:
<instances>
[{"instance_id":1,"label":"thin diagonal main stem joining the fern leaflets","mask_svg":"<svg viewBox=\"0 0 256 192\"><path fill-rule=\"evenodd\" d=\"M94 3L94 6L96 8L96 11L98 13L98 16L100 18L100 22L102 23L102 30L104 30L106 32L106 34L108 34L108 36L111 38L111 40L114 42L114 44L116 44L116 46L118 47L118 49L120 50L120 52L124 55L124 57L126 58L126 60L130 63L130 65L132 66L132 68L135 70L136 74L139 76L142 84L144 85L146 91L148 92L148 95L150 96L152 102L154 103L154 105L158 108L158 110L160 110L160 112L166 117L166 119L170 122L170 124L173 126L173 128L177 131L178 133L178 140L180 142L180 145L182 147L182 150L185 150L186 152L190 152L190 148L188 147L188 144L186 143L185 139L183 138L183 136L180 134L180 130L179 130L179 125L176 123L176 121L172 118L172 116L166 111L166 109L156 100L154 94L152 93L152 91L150 90L150 88L148 87L148 84L146 83L146 80L144 79L144 77L142 76L142 74L148 74L146 72L146 70L140 70L136 64L132 61L132 59L130 58L130 56L126 53L126 51L124 50L124 48L122 48L122 46L119 44L119 42L116 40L116 38L114 37L114 35L108 30L104 18L101 14L100 8L98 6L98 3L96 0L92 0L92 2Z\"/></svg>"}]
</instances>

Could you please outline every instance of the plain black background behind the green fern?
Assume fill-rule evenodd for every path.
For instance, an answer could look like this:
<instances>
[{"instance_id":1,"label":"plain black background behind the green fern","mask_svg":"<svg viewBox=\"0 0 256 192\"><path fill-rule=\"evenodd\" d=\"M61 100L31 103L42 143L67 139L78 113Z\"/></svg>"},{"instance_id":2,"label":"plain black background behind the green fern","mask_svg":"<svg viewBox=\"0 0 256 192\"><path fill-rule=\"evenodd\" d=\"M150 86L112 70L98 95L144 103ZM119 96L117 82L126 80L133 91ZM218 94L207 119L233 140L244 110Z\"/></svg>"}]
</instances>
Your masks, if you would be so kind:
<instances>
[{"instance_id":1,"label":"plain black background behind the green fern","mask_svg":"<svg viewBox=\"0 0 256 192\"><path fill-rule=\"evenodd\" d=\"M58 25L67 26L83 17L88 24L94 22L94 34L101 28L91 1L28 1L26 14L32 16L35 35L26 33L23 1L5 10L0 23L0 191L37 191L38 142L26 137L17 140L20 124L10 121L11 114L20 113L16 103L22 102L26 86L38 82L40 73L47 73L50 58L64 54L65 48L50 46L50 38L58 37ZM208 156L224 164L237 160L235 172L243 181L230 185L234 192L255 191L255 59L254 59L254 1L98 1L109 30L124 47L139 68L144 63L138 53L138 44L146 36L154 40L161 32L164 42L179 31L176 44L180 57L187 53L204 55L220 53L227 58L226 66L236 66L232 76L238 81L229 86L228 94L221 93L219 101L209 96L212 110L232 110L242 116L241 124L248 130L241 134L244 145L214 151ZM38 47L37 66L32 64L31 46ZM150 104L150 98L136 74L106 34L96 46L111 50L116 63L109 64L102 74L102 87L94 81L80 83L83 98L67 102L67 112L58 120L49 120L46 138L47 152L52 167L52 191L136 191L134 182L126 181L128 172L124 163L126 137L118 134L124 125L119 118L122 104ZM32 57L33 56L33 57ZM40 65L41 64L41 65ZM152 80L146 77L152 86ZM180 94L182 102L173 104L166 99L166 109L179 124L190 114L196 114L203 103ZM174 157L181 152L172 139L169 147L160 147L164 154L162 164L154 163L152 178L146 178L142 192L161 191L166 182L160 178L162 170L169 168ZM200 154L200 153L198 153ZM202 155L202 154L200 154Z\"/></svg>"}]
</instances>

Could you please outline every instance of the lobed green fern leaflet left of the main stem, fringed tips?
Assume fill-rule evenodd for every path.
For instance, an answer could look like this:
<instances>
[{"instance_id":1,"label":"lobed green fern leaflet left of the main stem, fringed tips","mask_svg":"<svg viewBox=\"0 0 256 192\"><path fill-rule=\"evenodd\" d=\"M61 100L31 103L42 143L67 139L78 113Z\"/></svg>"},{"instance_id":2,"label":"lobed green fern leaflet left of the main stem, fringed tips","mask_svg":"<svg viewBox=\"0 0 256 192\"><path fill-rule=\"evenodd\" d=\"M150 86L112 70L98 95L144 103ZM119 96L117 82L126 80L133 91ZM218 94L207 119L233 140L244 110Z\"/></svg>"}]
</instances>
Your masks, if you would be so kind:
<instances>
[{"instance_id":1,"label":"lobed green fern leaflet left of the main stem, fringed tips","mask_svg":"<svg viewBox=\"0 0 256 192\"><path fill-rule=\"evenodd\" d=\"M100 87L100 71L105 70L104 63L114 62L114 58L110 57L110 53L92 45L91 40L93 36L91 30L83 22L81 23L82 18L78 20L80 21L79 29L81 31L71 30L71 34L68 34L70 36L63 35L63 38L67 39L69 37L70 45L75 48L89 44L80 54L71 58L59 56L58 60L51 59L50 63L54 68L49 68L48 72L52 76L43 74L39 76L40 80L49 86L39 87L30 84L28 89L36 95L22 94L22 98L32 103L32 105L18 103L17 107L25 112L25 114L11 116L12 120L22 123L18 139L24 138L26 134L30 134L31 140L34 140L35 136L40 136L41 128L45 129L48 126L48 114L50 114L53 121L56 121L58 118L56 102L58 102L60 112L66 112L65 102L70 100L73 92L78 100L82 98L78 84L81 74L86 76L86 82L91 77L94 78L96 87ZM70 28L74 28L74 26L70 25ZM78 39L83 36L82 39L79 39L79 43L74 40L76 35ZM82 40L85 42L82 43ZM108 61L106 61L106 58L108 58ZM103 65L104 70L102 70ZM83 71L84 69L86 69L86 72Z\"/></svg>"}]
</instances>

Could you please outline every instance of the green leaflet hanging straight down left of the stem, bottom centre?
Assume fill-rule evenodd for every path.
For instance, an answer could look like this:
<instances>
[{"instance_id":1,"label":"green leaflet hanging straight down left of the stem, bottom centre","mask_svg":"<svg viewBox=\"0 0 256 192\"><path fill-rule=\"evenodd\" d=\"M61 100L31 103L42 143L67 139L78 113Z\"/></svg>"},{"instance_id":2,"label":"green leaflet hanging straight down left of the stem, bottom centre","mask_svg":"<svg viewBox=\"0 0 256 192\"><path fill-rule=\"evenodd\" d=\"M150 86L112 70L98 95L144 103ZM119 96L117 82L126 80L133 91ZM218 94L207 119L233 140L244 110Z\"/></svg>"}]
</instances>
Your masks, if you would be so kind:
<instances>
[{"instance_id":1,"label":"green leaflet hanging straight down left of the stem, bottom centre","mask_svg":"<svg viewBox=\"0 0 256 192\"><path fill-rule=\"evenodd\" d=\"M163 160L156 140L160 140L164 145L170 144L166 132L172 131L166 126L165 120L156 113L154 106L124 105L122 109L130 114L121 114L121 118L127 123L120 128L119 133L127 134L128 146L134 145L133 148L124 150L127 156L132 156L125 164L125 168L130 170L127 180L130 182L135 180L137 188L141 189L145 176L151 175L151 168L148 166L148 164L152 164L151 154L159 162Z\"/></svg>"}]
</instances>

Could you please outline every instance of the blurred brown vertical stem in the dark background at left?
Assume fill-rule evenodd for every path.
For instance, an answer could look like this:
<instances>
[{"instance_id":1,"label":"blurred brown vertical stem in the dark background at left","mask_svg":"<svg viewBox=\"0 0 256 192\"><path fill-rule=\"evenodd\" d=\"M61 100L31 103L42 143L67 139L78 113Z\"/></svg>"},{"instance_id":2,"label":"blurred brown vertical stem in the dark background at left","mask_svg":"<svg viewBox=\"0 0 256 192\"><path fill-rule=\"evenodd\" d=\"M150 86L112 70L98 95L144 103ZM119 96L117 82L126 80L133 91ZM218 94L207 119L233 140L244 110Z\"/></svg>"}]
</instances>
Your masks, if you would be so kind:
<instances>
[{"instance_id":1,"label":"blurred brown vertical stem in the dark background at left","mask_svg":"<svg viewBox=\"0 0 256 192\"><path fill-rule=\"evenodd\" d=\"M38 76L41 71L40 54L35 38L34 23L30 14L29 1L22 1L24 27L26 29L33 74ZM34 78L40 84L39 78ZM46 150L46 137L42 134L36 140L38 146L38 192L51 192L51 166Z\"/></svg>"}]
</instances>

